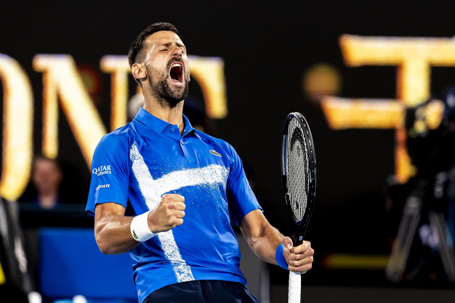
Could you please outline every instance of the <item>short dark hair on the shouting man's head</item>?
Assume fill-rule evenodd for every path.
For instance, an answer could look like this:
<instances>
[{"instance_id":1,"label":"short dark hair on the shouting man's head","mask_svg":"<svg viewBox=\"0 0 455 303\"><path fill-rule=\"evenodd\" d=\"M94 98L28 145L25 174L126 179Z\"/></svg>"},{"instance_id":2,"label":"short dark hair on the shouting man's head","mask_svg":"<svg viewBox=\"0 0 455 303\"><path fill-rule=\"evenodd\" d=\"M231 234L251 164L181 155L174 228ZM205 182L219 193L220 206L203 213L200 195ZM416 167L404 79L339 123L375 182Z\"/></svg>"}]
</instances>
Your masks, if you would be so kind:
<instances>
[{"instance_id":1,"label":"short dark hair on the shouting man's head","mask_svg":"<svg viewBox=\"0 0 455 303\"><path fill-rule=\"evenodd\" d=\"M130 65L130 68L133 66L133 64L144 61L145 49L147 47L147 45L144 45L144 41L149 35L152 35L161 30L173 31L179 36L179 38L181 38L177 28L170 23L157 22L147 26L147 28L145 30L142 30L142 32L136 37L133 44L131 44L130 50L128 51L128 63ZM139 79L134 78L134 80L136 80L137 83L140 83Z\"/></svg>"}]
</instances>

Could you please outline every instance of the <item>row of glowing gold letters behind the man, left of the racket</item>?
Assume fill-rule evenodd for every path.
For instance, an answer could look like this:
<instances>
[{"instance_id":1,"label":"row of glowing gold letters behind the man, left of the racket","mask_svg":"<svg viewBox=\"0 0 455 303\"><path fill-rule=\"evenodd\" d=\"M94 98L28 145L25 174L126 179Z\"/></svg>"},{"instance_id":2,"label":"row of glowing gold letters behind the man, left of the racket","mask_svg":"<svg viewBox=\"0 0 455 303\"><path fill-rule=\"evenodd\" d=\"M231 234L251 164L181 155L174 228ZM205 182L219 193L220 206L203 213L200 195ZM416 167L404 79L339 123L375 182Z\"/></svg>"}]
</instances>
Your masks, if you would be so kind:
<instances>
[{"instance_id":1,"label":"row of glowing gold letters behind the man, left of the racket","mask_svg":"<svg viewBox=\"0 0 455 303\"><path fill-rule=\"evenodd\" d=\"M188 56L191 75L202 88L207 115L227 115L224 63L221 58ZM104 56L101 70L111 73L111 130L126 124L128 75L126 56ZM101 116L87 93L76 63L69 55L36 55L35 71L43 73L43 141L46 157L58 155L58 106L60 105L81 148L87 166L93 151L107 133ZM33 92L20 64L0 54L0 78L3 83L3 158L0 194L15 200L29 179L33 143ZM142 93L138 86L137 94Z\"/></svg>"}]
</instances>

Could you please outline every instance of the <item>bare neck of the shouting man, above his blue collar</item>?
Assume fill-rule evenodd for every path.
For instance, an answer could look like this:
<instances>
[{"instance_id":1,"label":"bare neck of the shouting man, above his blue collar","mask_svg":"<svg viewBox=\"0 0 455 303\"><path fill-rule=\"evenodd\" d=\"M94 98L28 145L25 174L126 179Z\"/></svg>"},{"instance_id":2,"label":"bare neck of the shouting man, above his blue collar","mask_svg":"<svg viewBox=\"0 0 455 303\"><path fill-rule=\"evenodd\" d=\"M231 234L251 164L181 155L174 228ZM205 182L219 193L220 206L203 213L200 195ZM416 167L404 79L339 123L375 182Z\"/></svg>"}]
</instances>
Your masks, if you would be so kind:
<instances>
[{"instance_id":1,"label":"bare neck of the shouting man, above his blue collar","mask_svg":"<svg viewBox=\"0 0 455 303\"><path fill-rule=\"evenodd\" d=\"M177 125L180 130L180 134L183 133L185 123L183 122L183 101L179 102L177 106L163 106L164 102L159 102L155 98L146 96L144 102L144 109L156 116L158 119L169 122L172 125Z\"/></svg>"}]
</instances>

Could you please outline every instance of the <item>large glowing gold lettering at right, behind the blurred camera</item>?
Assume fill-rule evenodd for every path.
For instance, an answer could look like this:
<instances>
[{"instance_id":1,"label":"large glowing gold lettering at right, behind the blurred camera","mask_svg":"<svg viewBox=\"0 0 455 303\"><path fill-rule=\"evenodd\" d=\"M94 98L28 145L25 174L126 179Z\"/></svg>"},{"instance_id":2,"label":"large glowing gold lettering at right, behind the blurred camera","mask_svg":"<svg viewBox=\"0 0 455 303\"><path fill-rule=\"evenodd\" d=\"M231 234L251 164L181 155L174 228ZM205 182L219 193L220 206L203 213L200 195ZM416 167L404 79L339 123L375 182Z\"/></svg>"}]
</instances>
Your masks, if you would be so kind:
<instances>
[{"instance_id":1,"label":"large glowing gold lettering at right, behind the blurred camera","mask_svg":"<svg viewBox=\"0 0 455 303\"><path fill-rule=\"evenodd\" d=\"M329 125L334 129L395 128L395 177L406 182L415 168L406 147L404 110L428 100L431 66L455 66L455 41L342 35L340 46L348 66L397 66L397 100L326 97L322 108ZM429 128L439 126L443 109L437 100L425 107Z\"/></svg>"}]
</instances>

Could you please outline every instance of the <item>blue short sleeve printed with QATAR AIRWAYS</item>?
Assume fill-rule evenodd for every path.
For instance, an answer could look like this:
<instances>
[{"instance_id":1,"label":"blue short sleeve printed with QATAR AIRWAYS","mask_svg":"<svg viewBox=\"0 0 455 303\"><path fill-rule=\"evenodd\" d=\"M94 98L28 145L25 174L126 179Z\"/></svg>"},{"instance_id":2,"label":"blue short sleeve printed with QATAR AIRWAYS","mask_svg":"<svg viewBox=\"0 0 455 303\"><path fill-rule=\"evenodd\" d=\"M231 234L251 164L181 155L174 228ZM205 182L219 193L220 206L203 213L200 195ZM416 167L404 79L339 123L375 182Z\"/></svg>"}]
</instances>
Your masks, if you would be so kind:
<instances>
[{"instance_id":1,"label":"blue short sleeve printed with QATAR AIRWAYS","mask_svg":"<svg viewBox=\"0 0 455 303\"><path fill-rule=\"evenodd\" d=\"M114 202L126 209L128 201L130 159L128 140L107 134L96 146L91 161L91 183L86 212L95 215L96 204Z\"/></svg>"}]
</instances>

